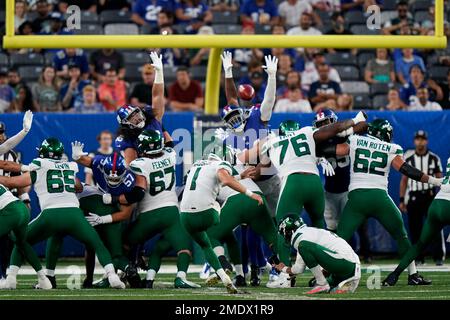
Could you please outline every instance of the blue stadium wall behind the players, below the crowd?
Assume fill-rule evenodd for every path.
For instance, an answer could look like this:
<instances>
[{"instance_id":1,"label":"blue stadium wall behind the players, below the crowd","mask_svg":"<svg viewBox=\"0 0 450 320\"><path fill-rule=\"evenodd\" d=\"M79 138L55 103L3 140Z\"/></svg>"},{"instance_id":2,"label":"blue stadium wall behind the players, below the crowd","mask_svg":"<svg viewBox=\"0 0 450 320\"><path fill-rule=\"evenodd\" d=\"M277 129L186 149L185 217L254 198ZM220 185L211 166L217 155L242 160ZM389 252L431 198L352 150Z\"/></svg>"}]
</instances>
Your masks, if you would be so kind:
<instances>
[{"instance_id":1,"label":"blue stadium wall behind the players, below the crowd","mask_svg":"<svg viewBox=\"0 0 450 320\"><path fill-rule=\"evenodd\" d=\"M339 118L351 118L355 112L340 113ZM277 128L285 119L299 120L302 125L310 125L313 114L274 114L270 122L271 127ZM383 117L391 121L394 126L394 141L405 150L413 148L413 135L416 130L423 129L429 134L429 148L437 153L443 163L450 156L450 111L443 112L369 112L369 120ZM177 128L183 128L193 132L194 114L191 113L167 113L164 116L164 126L172 132ZM12 135L22 126L22 115L4 114L0 121L5 122L7 133ZM96 136L102 130L110 130L113 133L117 129L114 114L74 115L74 114L35 114L33 128L25 140L16 148L22 155L24 163L29 163L36 157L36 147L49 136L61 139L70 155L70 142L74 140L85 143L85 150L92 151L97 148ZM177 141L176 141L177 142ZM84 173L80 168L79 178L84 179ZM183 167L177 168L177 184L182 181ZM389 178L389 194L394 202L398 202L398 186L400 175L393 170ZM37 199L32 192L32 216L38 214ZM406 221L407 217L404 215ZM445 233L447 236L448 232ZM369 235L371 250L374 252L395 252L396 246L392 238L373 219L369 220ZM36 246L40 254L45 252L45 243ZM64 256L82 256L83 246L67 238L64 244Z\"/></svg>"}]
</instances>

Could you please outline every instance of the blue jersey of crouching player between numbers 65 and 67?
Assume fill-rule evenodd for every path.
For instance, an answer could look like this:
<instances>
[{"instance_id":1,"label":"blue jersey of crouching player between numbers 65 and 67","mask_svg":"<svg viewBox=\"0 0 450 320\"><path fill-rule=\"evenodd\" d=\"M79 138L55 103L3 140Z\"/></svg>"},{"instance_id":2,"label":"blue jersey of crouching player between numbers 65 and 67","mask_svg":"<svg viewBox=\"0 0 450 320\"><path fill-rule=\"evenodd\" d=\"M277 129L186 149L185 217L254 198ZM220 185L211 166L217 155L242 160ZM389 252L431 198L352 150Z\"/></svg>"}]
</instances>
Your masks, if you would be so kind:
<instances>
[{"instance_id":1,"label":"blue jersey of crouching player between numbers 65 and 67","mask_svg":"<svg viewBox=\"0 0 450 320\"><path fill-rule=\"evenodd\" d=\"M92 160L92 175L94 177L95 182L103 191L112 194L113 196L119 196L124 193L128 193L133 189L136 183L136 177L131 171L125 173L122 182L115 187L111 187L108 185L105 179L105 175L103 174L102 166L103 161L108 156L105 155L96 155Z\"/></svg>"}]
</instances>

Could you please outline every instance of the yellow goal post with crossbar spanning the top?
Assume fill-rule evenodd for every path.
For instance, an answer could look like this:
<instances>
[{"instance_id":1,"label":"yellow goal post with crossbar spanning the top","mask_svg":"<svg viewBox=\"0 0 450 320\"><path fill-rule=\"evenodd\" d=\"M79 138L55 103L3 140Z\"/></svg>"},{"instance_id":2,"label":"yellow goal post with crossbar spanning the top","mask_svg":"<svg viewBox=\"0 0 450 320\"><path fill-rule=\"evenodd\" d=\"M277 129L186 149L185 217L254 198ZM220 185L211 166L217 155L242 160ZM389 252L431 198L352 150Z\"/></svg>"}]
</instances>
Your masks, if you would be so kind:
<instances>
[{"instance_id":1,"label":"yellow goal post with crossbar spanning the top","mask_svg":"<svg viewBox=\"0 0 450 320\"><path fill-rule=\"evenodd\" d=\"M445 48L444 0L435 1L433 36L399 35L43 35L14 34L15 0L6 2L5 49L20 48L211 48L205 87L205 113L217 114L223 48Z\"/></svg>"}]
</instances>

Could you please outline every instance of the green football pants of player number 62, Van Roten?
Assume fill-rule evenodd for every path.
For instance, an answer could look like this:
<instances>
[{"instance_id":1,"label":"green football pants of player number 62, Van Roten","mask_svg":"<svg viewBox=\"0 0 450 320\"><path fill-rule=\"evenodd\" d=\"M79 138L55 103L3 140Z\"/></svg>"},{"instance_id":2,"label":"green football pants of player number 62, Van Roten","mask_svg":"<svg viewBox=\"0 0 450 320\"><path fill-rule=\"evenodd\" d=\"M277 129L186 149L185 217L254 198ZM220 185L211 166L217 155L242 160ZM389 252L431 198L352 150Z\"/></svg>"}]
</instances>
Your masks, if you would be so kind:
<instances>
[{"instance_id":1,"label":"green football pants of player number 62, Van Roten","mask_svg":"<svg viewBox=\"0 0 450 320\"><path fill-rule=\"evenodd\" d=\"M348 201L339 221L337 235L350 241L353 233L368 218L375 218L397 242L401 257L411 247L400 210L381 189L356 189L348 194Z\"/></svg>"}]
</instances>

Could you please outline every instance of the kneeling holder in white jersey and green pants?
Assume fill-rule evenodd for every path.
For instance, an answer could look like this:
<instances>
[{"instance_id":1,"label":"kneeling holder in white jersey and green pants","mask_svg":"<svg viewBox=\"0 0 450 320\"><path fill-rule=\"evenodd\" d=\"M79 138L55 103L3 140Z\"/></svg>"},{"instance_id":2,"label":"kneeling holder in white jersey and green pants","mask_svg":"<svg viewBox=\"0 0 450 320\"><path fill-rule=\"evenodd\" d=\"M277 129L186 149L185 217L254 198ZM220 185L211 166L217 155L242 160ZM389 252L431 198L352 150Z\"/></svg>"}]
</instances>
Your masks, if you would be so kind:
<instances>
[{"instance_id":1,"label":"kneeling holder in white jersey and green pants","mask_svg":"<svg viewBox=\"0 0 450 320\"><path fill-rule=\"evenodd\" d=\"M327 230L307 227L297 215L281 221L278 230L298 254L292 267L280 263L276 268L289 274L299 274L308 267L316 285L307 294L356 290L361 278L361 266L358 255L344 239ZM328 279L321 267L330 273Z\"/></svg>"}]
</instances>

